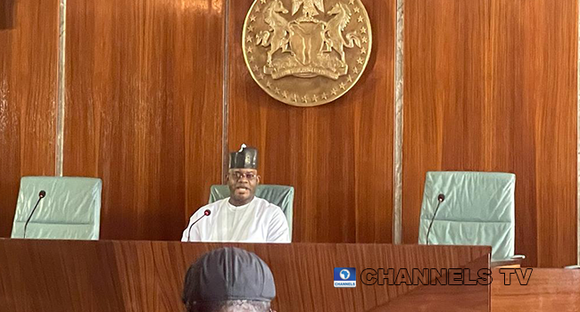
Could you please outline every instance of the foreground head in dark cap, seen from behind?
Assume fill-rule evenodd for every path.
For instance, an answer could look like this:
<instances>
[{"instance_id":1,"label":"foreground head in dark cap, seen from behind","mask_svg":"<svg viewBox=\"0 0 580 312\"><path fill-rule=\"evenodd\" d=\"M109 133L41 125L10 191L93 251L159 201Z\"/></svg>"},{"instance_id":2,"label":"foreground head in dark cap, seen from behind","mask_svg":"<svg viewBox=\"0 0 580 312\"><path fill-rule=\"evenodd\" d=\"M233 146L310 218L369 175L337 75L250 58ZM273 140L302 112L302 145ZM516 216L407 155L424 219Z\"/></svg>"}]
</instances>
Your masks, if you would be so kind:
<instances>
[{"instance_id":1,"label":"foreground head in dark cap, seen from behind","mask_svg":"<svg viewBox=\"0 0 580 312\"><path fill-rule=\"evenodd\" d=\"M187 270L182 300L187 312L268 312L274 276L253 252L211 250Z\"/></svg>"}]
</instances>

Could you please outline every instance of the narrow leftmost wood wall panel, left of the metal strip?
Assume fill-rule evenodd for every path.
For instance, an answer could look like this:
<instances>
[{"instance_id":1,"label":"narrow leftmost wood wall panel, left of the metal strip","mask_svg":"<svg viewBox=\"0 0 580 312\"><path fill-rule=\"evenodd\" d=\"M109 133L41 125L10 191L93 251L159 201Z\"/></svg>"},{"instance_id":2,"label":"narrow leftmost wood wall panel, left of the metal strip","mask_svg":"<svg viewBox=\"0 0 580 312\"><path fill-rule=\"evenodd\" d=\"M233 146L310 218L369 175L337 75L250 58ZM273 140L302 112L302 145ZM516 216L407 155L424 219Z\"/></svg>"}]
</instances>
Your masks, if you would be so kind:
<instances>
[{"instance_id":1,"label":"narrow leftmost wood wall panel, left of the metal strip","mask_svg":"<svg viewBox=\"0 0 580 312\"><path fill-rule=\"evenodd\" d=\"M10 236L21 176L54 175L57 0L0 4L0 236Z\"/></svg>"}]
</instances>

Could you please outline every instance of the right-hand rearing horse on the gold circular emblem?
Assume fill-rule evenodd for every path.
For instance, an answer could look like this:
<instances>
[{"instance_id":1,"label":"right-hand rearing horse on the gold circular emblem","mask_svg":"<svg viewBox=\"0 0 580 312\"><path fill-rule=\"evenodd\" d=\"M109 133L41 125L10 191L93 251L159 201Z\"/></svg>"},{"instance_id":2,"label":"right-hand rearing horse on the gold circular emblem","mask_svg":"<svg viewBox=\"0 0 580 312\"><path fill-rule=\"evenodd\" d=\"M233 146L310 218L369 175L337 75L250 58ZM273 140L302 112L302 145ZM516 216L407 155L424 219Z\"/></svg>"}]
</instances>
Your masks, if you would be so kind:
<instances>
[{"instance_id":1,"label":"right-hand rearing horse on the gold circular emblem","mask_svg":"<svg viewBox=\"0 0 580 312\"><path fill-rule=\"evenodd\" d=\"M341 4L336 3L328 15L334 15L330 21L327 22L327 47L329 51L333 49L340 54L342 62L346 62L344 57L344 47L352 48L354 45L360 47L360 37L357 36L356 31L346 34L346 40L343 37L343 31L351 21L351 10Z\"/></svg>"}]
</instances>

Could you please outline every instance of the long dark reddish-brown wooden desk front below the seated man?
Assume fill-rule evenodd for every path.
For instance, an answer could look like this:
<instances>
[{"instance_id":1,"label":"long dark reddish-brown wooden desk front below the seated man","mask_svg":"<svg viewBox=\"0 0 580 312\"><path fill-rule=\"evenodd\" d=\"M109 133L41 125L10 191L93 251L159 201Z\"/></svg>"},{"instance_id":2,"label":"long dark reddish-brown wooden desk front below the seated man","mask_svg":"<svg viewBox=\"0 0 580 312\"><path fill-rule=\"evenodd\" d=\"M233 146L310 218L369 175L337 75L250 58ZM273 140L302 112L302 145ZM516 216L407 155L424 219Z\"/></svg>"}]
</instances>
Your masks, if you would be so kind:
<instances>
[{"instance_id":1,"label":"long dark reddish-brown wooden desk front below the seated man","mask_svg":"<svg viewBox=\"0 0 580 312\"><path fill-rule=\"evenodd\" d=\"M489 311L490 285L367 285L366 268L489 268L489 247L239 244L0 239L0 311L183 311L187 267L208 250L255 252L274 274L282 311ZM355 267L355 288L334 287ZM388 282L388 281L387 281Z\"/></svg>"}]
</instances>

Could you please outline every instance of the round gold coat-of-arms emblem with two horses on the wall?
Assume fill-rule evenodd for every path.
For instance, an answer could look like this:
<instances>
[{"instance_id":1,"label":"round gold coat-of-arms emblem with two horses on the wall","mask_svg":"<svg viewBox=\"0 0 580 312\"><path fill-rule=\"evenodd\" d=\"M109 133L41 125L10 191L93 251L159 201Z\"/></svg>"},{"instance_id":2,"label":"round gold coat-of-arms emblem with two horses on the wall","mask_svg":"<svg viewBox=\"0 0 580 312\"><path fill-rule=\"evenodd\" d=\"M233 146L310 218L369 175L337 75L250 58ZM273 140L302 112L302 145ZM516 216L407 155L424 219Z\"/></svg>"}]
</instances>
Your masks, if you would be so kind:
<instances>
[{"instance_id":1,"label":"round gold coat-of-arms emblem with two horses on the wall","mask_svg":"<svg viewBox=\"0 0 580 312\"><path fill-rule=\"evenodd\" d=\"M371 38L360 0L255 0L242 49L266 93L286 104L316 106L356 84L369 62Z\"/></svg>"}]
</instances>

